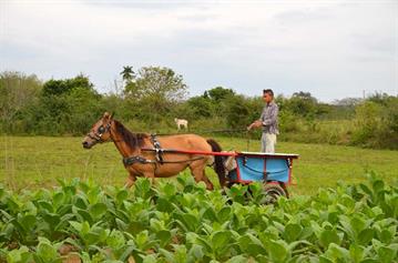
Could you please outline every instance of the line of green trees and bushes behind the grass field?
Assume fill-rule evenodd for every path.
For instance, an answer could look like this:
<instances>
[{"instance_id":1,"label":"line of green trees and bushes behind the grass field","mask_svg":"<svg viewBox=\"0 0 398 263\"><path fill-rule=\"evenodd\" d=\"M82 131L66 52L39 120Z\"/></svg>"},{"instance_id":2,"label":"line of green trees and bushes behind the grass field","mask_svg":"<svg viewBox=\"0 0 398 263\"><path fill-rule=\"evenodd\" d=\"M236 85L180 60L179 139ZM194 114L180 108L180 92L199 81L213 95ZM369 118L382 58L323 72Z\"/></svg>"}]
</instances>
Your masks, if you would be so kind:
<instances>
[{"instance_id":1,"label":"line of green trees and bushes behind the grass field","mask_svg":"<svg viewBox=\"0 0 398 263\"><path fill-rule=\"evenodd\" d=\"M188 120L192 132L238 131L257 119L264 107L262 91L246 97L214 87L188 98L183 77L170 68L134 71L126 65L121 77L120 92L101 94L83 74L41 81L34 74L1 72L0 132L81 135L104 111L115 112L133 131L175 132L174 118ZM276 102L282 140L398 149L397 97L375 93L328 104L298 91L289 98L279 94Z\"/></svg>"}]
</instances>

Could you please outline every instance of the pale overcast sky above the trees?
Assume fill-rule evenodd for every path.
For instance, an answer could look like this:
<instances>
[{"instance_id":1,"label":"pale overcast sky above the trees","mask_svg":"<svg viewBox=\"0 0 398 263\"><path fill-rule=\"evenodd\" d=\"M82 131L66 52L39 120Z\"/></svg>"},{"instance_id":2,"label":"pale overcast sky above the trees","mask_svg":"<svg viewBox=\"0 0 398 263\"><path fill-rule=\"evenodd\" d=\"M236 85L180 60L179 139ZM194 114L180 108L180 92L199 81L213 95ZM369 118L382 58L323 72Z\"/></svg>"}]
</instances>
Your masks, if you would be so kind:
<instances>
[{"instance_id":1,"label":"pale overcast sky above the trees","mask_svg":"<svg viewBox=\"0 0 398 263\"><path fill-rule=\"evenodd\" d=\"M112 92L123 65L169 67L190 95L398 95L398 0L0 0L0 71Z\"/></svg>"}]
</instances>

